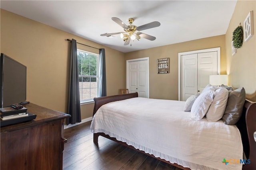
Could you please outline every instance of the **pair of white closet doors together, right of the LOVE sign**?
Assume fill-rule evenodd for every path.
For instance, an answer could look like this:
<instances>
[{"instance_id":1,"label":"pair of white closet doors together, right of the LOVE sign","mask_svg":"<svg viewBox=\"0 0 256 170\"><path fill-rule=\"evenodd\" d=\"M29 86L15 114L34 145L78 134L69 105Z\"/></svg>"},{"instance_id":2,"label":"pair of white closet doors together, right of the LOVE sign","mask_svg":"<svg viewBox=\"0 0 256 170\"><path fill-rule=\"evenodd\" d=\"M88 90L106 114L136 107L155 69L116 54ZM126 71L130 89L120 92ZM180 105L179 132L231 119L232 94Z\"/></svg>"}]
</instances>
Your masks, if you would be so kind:
<instances>
[{"instance_id":1,"label":"pair of white closet doors together, right of the LOVE sign","mask_svg":"<svg viewBox=\"0 0 256 170\"><path fill-rule=\"evenodd\" d=\"M182 55L181 100L201 93L209 84L209 76L218 73L217 51Z\"/></svg>"}]
</instances>

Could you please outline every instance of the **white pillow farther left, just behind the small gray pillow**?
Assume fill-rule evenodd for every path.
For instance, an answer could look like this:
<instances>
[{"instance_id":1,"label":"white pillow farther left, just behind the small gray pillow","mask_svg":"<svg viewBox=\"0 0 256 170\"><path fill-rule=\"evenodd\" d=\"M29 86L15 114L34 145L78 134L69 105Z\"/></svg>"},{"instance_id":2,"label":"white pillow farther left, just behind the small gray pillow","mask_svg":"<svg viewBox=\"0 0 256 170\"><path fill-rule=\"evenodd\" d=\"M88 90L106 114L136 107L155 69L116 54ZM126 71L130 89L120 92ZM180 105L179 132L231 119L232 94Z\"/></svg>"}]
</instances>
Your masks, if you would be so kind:
<instances>
[{"instance_id":1,"label":"white pillow farther left, just behind the small gray pillow","mask_svg":"<svg viewBox=\"0 0 256 170\"><path fill-rule=\"evenodd\" d=\"M207 113L214 98L214 91L208 90L196 98L191 108L191 119L201 120Z\"/></svg>"}]
</instances>

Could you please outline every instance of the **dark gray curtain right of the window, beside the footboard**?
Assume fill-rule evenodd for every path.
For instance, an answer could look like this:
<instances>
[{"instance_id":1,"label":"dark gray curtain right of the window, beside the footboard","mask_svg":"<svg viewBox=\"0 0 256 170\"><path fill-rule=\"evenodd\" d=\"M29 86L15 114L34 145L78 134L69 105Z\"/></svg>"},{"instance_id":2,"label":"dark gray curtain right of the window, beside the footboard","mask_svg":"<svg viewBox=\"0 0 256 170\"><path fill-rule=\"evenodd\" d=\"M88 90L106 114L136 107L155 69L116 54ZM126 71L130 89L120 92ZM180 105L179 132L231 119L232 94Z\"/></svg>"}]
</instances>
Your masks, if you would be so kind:
<instances>
[{"instance_id":1,"label":"dark gray curtain right of the window, beside the footboard","mask_svg":"<svg viewBox=\"0 0 256 170\"><path fill-rule=\"evenodd\" d=\"M99 97L102 97L107 96L105 49L100 49L99 68Z\"/></svg>"}]
</instances>

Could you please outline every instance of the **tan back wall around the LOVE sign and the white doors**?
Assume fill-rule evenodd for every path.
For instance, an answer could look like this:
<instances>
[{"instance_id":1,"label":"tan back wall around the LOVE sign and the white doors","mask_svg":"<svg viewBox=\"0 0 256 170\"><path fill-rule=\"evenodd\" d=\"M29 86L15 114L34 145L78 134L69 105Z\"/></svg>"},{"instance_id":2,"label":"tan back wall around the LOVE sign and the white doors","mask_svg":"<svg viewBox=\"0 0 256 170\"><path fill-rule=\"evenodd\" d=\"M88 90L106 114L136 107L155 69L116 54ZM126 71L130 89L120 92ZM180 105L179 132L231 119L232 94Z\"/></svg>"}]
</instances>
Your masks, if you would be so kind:
<instances>
[{"instance_id":1,"label":"tan back wall around the LOVE sign and the white doors","mask_svg":"<svg viewBox=\"0 0 256 170\"><path fill-rule=\"evenodd\" d=\"M149 57L149 97L178 100L178 53L220 47L220 71L226 74L225 35L125 53L125 59ZM170 73L157 74L157 59L170 58Z\"/></svg>"}]
</instances>

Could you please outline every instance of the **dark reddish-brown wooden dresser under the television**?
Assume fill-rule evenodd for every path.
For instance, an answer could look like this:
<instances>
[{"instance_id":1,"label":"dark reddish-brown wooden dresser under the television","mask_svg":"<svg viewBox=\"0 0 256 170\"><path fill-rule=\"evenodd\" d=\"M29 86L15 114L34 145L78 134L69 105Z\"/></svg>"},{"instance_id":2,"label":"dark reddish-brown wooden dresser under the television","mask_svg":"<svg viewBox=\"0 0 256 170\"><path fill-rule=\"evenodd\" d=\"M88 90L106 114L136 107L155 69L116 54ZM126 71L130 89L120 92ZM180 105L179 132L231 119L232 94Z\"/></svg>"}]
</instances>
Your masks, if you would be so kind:
<instances>
[{"instance_id":1,"label":"dark reddish-brown wooden dresser under the television","mask_svg":"<svg viewBox=\"0 0 256 170\"><path fill-rule=\"evenodd\" d=\"M62 170L64 119L70 115L24 105L33 121L1 127L1 170Z\"/></svg>"}]
</instances>

